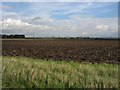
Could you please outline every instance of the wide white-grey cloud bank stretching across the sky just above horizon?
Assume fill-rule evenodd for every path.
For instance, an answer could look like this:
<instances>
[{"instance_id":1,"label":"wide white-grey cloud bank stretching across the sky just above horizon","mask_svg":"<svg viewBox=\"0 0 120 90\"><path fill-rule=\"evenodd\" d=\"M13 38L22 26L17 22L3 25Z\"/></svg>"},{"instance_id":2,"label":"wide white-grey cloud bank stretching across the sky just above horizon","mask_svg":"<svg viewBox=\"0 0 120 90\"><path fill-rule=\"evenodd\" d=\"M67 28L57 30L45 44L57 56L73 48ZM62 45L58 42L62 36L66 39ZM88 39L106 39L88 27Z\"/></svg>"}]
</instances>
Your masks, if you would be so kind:
<instances>
[{"instance_id":1,"label":"wide white-grey cloud bank stretching across the sky just above horizon","mask_svg":"<svg viewBox=\"0 0 120 90\"><path fill-rule=\"evenodd\" d=\"M28 18L29 19L29 18ZM117 37L117 18L83 18L72 16L68 20L34 18L28 20L4 19L3 33L23 33L29 36L104 36ZM111 30L109 30L109 28ZM105 34L107 33L107 34Z\"/></svg>"}]
</instances>

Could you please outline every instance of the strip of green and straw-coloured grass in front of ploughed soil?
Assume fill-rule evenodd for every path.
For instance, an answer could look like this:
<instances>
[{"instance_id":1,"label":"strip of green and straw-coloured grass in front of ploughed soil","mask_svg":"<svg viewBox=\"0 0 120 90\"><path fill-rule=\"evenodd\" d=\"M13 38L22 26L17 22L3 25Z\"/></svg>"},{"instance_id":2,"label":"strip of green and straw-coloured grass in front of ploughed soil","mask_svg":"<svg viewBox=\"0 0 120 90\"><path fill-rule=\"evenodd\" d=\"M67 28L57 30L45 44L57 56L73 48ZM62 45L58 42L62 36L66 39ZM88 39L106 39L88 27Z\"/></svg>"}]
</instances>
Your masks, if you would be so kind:
<instances>
[{"instance_id":1,"label":"strip of green and straw-coloured grass in front of ploughed soil","mask_svg":"<svg viewBox=\"0 0 120 90\"><path fill-rule=\"evenodd\" d=\"M118 88L118 65L2 57L3 88Z\"/></svg>"}]
</instances>

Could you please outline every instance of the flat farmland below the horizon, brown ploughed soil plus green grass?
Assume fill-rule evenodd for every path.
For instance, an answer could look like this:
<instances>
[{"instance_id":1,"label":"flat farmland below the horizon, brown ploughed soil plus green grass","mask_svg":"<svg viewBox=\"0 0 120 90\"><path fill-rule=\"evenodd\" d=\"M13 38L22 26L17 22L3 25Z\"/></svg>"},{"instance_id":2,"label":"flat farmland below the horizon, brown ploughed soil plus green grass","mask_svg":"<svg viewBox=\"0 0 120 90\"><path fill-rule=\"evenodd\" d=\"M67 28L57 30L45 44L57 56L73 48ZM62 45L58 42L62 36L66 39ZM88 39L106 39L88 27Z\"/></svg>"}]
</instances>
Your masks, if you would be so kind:
<instances>
[{"instance_id":1,"label":"flat farmland below the horizon, brown ploughed soil plus green grass","mask_svg":"<svg viewBox=\"0 0 120 90\"><path fill-rule=\"evenodd\" d=\"M118 88L117 40L3 39L3 88Z\"/></svg>"}]
</instances>

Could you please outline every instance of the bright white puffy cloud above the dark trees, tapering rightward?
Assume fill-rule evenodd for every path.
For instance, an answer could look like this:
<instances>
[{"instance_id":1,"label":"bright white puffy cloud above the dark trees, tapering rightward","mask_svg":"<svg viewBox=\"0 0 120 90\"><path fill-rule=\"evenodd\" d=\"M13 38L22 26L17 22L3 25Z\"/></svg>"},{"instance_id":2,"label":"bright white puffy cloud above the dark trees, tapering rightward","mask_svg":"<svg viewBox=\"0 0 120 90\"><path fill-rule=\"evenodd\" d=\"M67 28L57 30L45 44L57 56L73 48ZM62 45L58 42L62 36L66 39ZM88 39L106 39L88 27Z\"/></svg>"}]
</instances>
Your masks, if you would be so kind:
<instances>
[{"instance_id":1,"label":"bright white puffy cloud above the dark trees, tapering rightward","mask_svg":"<svg viewBox=\"0 0 120 90\"><path fill-rule=\"evenodd\" d=\"M46 25L34 25L27 22L23 22L20 19L5 19L2 21L2 30L4 33L28 33L36 32L39 30L54 30L54 27L49 27Z\"/></svg>"}]
</instances>

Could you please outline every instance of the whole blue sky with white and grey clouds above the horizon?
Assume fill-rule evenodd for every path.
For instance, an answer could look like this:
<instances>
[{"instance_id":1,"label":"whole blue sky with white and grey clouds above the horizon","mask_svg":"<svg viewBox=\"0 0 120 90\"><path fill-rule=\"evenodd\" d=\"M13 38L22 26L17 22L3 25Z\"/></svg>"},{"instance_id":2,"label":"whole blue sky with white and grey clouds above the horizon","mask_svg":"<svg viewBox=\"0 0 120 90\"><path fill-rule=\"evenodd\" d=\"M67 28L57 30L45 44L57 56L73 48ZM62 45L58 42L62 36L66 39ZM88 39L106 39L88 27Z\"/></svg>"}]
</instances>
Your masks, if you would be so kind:
<instances>
[{"instance_id":1,"label":"whole blue sky with white and grey clouds above the horizon","mask_svg":"<svg viewBox=\"0 0 120 90\"><path fill-rule=\"evenodd\" d=\"M118 37L117 2L2 2L3 34Z\"/></svg>"}]
</instances>

